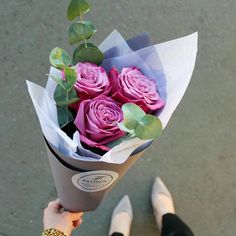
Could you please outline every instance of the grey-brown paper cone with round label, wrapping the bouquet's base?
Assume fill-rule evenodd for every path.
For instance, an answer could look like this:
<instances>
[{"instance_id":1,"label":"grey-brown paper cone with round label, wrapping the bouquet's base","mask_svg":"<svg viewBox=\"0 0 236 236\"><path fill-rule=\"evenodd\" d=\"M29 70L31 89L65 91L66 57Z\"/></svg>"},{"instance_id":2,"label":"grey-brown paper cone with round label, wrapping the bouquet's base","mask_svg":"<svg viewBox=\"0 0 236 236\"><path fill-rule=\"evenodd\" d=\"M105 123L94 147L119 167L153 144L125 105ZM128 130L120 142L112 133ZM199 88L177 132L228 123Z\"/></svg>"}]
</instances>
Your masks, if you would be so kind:
<instances>
[{"instance_id":1,"label":"grey-brown paper cone with round label, wrapping the bouquet's base","mask_svg":"<svg viewBox=\"0 0 236 236\"><path fill-rule=\"evenodd\" d=\"M77 160L74 166L47 141L46 148L60 202L66 210L74 212L95 210L144 153L130 156L123 164Z\"/></svg>"}]
</instances>

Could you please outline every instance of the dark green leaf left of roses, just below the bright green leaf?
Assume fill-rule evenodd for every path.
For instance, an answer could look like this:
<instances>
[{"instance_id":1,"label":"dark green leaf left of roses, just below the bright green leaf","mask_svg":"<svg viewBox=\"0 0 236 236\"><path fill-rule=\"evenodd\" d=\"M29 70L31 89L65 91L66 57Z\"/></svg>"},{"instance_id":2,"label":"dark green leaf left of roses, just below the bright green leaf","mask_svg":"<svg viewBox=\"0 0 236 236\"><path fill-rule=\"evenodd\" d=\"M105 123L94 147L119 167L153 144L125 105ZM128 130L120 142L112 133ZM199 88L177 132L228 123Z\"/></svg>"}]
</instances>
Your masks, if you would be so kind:
<instances>
[{"instance_id":1,"label":"dark green leaf left of roses, just below the bright green leaf","mask_svg":"<svg viewBox=\"0 0 236 236\"><path fill-rule=\"evenodd\" d=\"M74 88L66 91L61 86L57 86L54 92L54 100L57 106L66 106L79 101L79 98Z\"/></svg>"}]
</instances>

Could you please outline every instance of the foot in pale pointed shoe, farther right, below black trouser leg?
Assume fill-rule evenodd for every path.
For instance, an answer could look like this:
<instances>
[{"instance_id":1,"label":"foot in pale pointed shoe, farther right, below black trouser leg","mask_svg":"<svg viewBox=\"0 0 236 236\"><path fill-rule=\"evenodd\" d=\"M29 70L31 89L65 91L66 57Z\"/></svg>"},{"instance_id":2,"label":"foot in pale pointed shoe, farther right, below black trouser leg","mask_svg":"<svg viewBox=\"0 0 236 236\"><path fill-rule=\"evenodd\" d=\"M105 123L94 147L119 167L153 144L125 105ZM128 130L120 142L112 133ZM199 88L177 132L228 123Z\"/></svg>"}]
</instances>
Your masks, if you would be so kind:
<instances>
[{"instance_id":1,"label":"foot in pale pointed shoe, farther right, below black trouser leg","mask_svg":"<svg viewBox=\"0 0 236 236\"><path fill-rule=\"evenodd\" d=\"M163 183L163 181L157 177L152 186L151 194L152 206L154 215L157 221L159 230L162 228L162 217L167 213L175 213L174 203L172 196Z\"/></svg>"}]
</instances>

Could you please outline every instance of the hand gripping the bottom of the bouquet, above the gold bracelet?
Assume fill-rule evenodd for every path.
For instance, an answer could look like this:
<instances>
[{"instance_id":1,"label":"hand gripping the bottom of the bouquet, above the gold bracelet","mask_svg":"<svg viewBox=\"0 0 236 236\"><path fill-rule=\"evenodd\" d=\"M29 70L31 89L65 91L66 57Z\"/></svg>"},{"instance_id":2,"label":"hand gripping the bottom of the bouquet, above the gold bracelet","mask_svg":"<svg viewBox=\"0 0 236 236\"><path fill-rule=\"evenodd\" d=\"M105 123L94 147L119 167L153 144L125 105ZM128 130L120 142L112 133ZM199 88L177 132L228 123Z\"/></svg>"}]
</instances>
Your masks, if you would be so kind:
<instances>
[{"instance_id":1,"label":"hand gripping the bottom of the bouquet, above the gold bracelet","mask_svg":"<svg viewBox=\"0 0 236 236\"><path fill-rule=\"evenodd\" d=\"M83 212L64 211L59 199L49 202L44 209L44 230L54 228L71 235L71 232L82 223Z\"/></svg>"}]
</instances>

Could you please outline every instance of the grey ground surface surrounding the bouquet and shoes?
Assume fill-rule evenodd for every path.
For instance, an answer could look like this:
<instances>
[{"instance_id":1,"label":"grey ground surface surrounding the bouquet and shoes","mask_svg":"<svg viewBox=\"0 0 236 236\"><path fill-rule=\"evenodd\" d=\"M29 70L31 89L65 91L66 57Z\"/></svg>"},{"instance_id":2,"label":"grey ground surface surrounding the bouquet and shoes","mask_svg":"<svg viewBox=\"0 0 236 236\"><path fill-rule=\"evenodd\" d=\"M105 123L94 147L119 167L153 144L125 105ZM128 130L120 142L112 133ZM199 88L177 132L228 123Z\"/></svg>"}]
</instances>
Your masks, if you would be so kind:
<instances>
[{"instance_id":1,"label":"grey ground surface surrounding the bouquet and shoes","mask_svg":"<svg viewBox=\"0 0 236 236\"><path fill-rule=\"evenodd\" d=\"M0 1L0 235L40 235L42 210L56 197L25 80L45 85L48 55L67 44L66 0ZM131 235L158 235L150 188L161 176L178 214L196 235L236 235L236 1L90 0L99 43L114 28L164 42L199 32L192 82L161 140L73 235L107 235L113 207L129 194Z\"/></svg>"}]
</instances>

